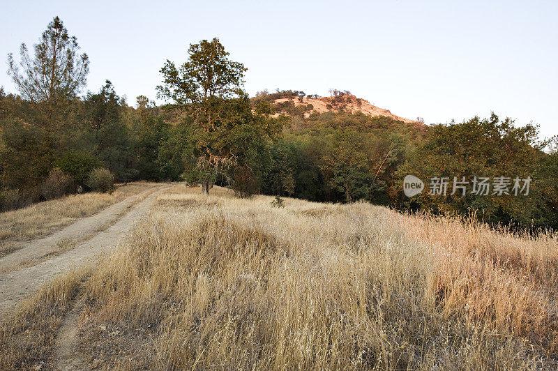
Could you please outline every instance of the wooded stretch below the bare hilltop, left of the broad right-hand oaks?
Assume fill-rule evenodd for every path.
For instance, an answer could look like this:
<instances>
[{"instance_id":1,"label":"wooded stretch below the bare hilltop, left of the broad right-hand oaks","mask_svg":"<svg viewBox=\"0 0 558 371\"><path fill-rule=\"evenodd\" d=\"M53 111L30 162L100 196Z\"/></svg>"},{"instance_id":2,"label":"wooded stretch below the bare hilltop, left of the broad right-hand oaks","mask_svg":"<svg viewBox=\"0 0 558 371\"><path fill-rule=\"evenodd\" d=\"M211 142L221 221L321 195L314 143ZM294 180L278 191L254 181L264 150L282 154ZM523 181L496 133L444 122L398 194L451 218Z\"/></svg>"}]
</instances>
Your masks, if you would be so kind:
<instances>
[{"instance_id":1,"label":"wooded stretch below the bare hilltop, left of the broad right-hand oaks","mask_svg":"<svg viewBox=\"0 0 558 371\"><path fill-rule=\"evenodd\" d=\"M264 192L390 204L388 184L405 161L409 138L419 136L402 121L364 114L312 114L299 127L271 145Z\"/></svg>"}]
</instances>

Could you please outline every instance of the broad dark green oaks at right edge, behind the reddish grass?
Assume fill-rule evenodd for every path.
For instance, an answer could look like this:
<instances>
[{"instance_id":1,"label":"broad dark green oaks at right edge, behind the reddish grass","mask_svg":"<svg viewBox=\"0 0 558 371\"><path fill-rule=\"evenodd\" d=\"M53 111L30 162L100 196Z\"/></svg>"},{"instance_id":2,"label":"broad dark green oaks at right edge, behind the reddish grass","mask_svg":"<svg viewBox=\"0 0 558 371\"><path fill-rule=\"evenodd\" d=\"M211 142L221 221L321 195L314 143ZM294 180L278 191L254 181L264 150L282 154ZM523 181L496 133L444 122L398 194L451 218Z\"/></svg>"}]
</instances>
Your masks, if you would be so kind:
<instances>
[{"instance_id":1,"label":"broad dark green oaks at right edge, behind the reddish grass","mask_svg":"<svg viewBox=\"0 0 558 371\"><path fill-rule=\"evenodd\" d=\"M469 181L473 176L531 176L529 196L492 195L491 191L489 195L468 192L465 197L448 192L440 197L423 192L412 200L402 200L402 206L439 213L476 212L487 222L521 227L556 225L552 199L557 188L550 180L552 156L541 151L545 145L538 140L536 126L515 127L511 119L500 121L495 114L489 119L475 117L433 126L412 158L398 169L398 184L407 174L427 182L432 176L447 176L452 181L454 176Z\"/></svg>"}]
</instances>

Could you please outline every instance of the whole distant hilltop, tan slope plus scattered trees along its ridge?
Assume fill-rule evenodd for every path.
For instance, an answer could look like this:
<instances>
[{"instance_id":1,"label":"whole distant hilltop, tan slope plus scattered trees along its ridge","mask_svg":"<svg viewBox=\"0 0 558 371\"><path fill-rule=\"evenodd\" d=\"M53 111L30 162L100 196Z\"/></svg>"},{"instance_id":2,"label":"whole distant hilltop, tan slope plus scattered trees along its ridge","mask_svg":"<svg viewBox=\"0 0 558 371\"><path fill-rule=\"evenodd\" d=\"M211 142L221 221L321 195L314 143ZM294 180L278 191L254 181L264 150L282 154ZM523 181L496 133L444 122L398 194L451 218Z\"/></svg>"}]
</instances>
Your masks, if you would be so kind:
<instances>
[{"instance_id":1,"label":"whole distant hilltop, tan slope plus scattered trees along its ridge","mask_svg":"<svg viewBox=\"0 0 558 371\"><path fill-rule=\"evenodd\" d=\"M277 91L268 93L259 91L252 100L266 100L273 105L275 116L279 114L303 114L309 116L312 112L350 112L358 111L369 116L387 116L391 119L400 120L405 123L422 123L422 119L406 119L405 117L392 114L389 109L372 105L368 100L356 98L349 91L331 90L331 96L322 97L316 94L306 95L303 91Z\"/></svg>"}]
</instances>

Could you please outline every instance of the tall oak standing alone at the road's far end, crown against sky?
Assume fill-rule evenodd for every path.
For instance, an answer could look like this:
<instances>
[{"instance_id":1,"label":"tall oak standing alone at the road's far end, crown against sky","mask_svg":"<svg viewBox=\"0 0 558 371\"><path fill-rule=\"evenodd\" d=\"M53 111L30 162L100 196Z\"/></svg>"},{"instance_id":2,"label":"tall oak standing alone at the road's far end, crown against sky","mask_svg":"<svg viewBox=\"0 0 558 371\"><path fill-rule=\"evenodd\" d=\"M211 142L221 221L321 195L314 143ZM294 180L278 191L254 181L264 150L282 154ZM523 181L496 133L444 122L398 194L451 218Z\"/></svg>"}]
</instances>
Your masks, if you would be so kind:
<instances>
[{"instance_id":1,"label":"tall oak standing alone at the road's far end, crown against sky","mask_svg":"<svg viewBox=\"0 0 558 371\"><path fill-rule=\"evenodd\" d=\"M218 38L191 44L188 61L176 68L167 60L160 70L163 85L157 87L158 95L186 108L193 117L196 167L206 195L216 174L236 160L232 148L223 145L223 136L239 119L229 111L234 103L227 100L246 99L242 90L246 70L242 63L229 59Z\"/></svg>"}]
</instances>

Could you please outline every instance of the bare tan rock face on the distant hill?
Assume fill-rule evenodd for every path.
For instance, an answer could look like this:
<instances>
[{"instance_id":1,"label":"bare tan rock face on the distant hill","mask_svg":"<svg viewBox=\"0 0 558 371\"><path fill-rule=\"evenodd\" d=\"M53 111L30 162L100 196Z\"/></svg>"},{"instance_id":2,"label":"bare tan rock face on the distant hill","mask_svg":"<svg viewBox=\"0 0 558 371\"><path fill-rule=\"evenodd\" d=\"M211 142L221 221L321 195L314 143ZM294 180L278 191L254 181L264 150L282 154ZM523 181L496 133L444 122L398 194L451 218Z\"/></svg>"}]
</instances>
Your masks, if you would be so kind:
<instances>
[{"instance_id":1,"label":"bare tan rock face on the distant hill","mask_svg":"<svg viewBox=\"0 0 558 371\"><path fill-rule=\"evenodd\" d=\"M295 106L299 105L312 105L314 110L323 113L334 111L337 112L342 109L345 112L355 113L361 111L363 114L368 114L369 116L388 116L395 120L400 120L406 123L416 123L416 120L405 119L405 117L397 116L392 114L389 109L383 109L370 104L368 100L361 98L356 98L351 94L345 94L343 96L332 96L332 97L318 97L318 98L307 98L304 97L302 102L298 98L280 98L275 100L275 103L286 102L287 100L292 100ZM308 116L308 114L306 114Z\"/></svg>"}]
</instances>

